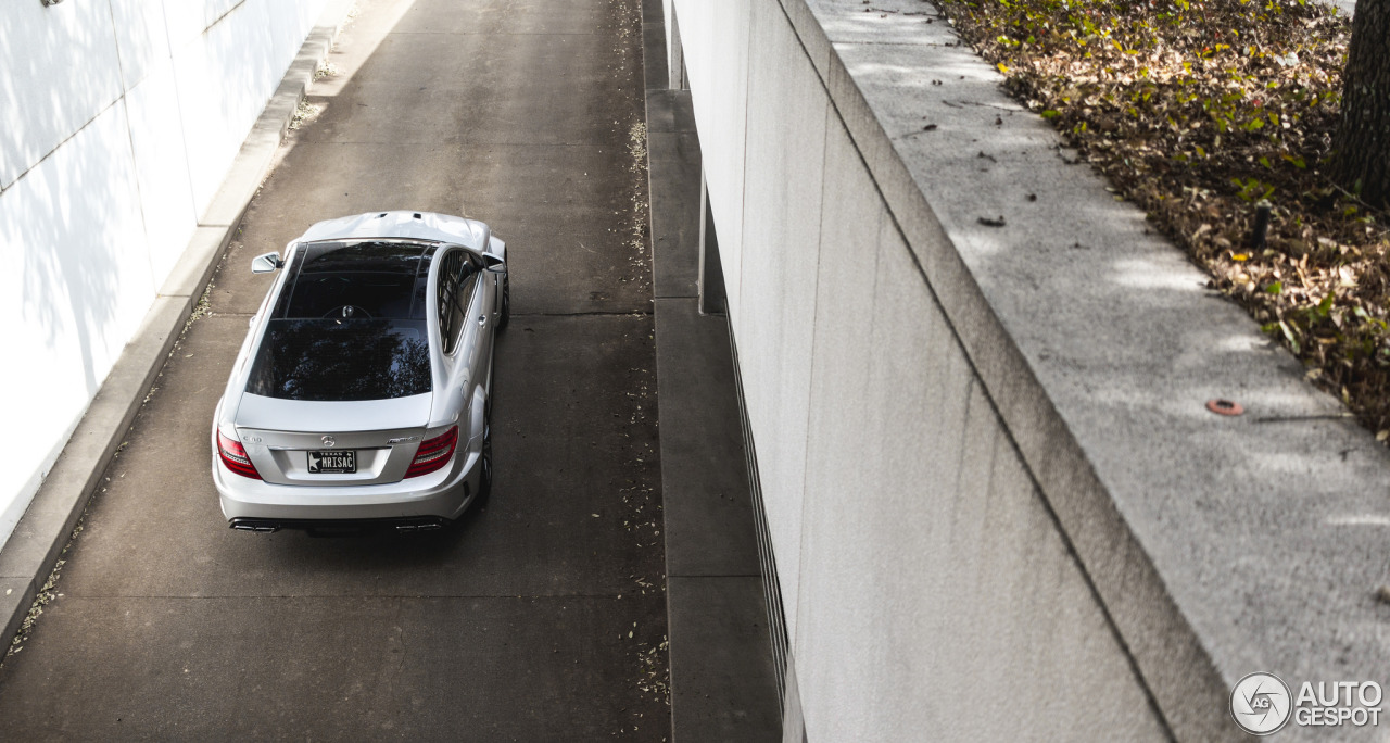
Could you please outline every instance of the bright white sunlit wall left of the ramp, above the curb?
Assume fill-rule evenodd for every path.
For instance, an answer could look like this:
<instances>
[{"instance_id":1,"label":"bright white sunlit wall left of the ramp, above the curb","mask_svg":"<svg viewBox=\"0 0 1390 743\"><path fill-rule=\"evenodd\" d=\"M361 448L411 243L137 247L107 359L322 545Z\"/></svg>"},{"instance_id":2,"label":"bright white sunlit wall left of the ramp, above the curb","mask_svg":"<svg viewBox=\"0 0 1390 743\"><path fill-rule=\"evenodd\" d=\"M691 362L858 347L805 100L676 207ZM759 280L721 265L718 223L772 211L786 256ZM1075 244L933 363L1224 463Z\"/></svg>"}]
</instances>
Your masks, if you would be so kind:
<instances>
[{"instance_id":1,"label":"bright white sunlit wall left of the ramp, above the curb","mask_svg":"<svg viewBox=\"0 0 1390 743\"><path fill-rule=\"evenodd\" d=\"M0 8L0 544L135 334L324 0Z\"/></svg>"}]
</instances>

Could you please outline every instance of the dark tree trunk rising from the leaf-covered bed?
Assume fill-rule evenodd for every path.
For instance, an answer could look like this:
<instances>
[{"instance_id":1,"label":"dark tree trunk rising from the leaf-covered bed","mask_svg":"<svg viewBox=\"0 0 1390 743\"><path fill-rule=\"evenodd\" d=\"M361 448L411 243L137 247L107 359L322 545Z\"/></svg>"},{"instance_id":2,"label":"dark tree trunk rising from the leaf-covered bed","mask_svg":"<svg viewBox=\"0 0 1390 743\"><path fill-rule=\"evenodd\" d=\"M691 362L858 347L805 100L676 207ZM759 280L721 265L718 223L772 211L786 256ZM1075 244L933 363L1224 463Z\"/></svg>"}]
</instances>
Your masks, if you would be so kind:
<instances>
[{"instance_id":1,"label":"dark tree trunk rising from the leaf-covered bed","mask_svg":"<svg viewBox=\"0 0 1390 743\"><path fill-rule=\"evenodd\" d=\"M1357 0L1333 141L1333 177L1372 206L1390 202L1390 0Z\"/></svg>"}]
</instances>

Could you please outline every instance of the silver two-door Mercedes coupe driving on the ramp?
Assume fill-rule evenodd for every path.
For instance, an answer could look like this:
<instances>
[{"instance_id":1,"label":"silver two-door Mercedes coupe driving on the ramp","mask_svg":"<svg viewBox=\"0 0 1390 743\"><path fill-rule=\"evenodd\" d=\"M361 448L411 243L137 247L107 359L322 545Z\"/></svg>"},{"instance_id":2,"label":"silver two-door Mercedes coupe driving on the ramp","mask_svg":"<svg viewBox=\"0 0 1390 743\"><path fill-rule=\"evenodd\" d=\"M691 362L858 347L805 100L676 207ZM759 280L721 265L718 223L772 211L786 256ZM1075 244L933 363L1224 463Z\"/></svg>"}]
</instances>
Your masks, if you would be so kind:
<instances>
[{"instance_id":1,"label":"silver two-door Mercedes coupe driving on the ramp","mask_svg":"<svg viewBox=\"0 0 1390 743\"><path fill-rule=\"evenodd\" d=\"M213 481L250 532L438 529L492 481L492 345L506 245L420 211L321 221L279 270L213 417Z\"/></svg>"}]
</instances>

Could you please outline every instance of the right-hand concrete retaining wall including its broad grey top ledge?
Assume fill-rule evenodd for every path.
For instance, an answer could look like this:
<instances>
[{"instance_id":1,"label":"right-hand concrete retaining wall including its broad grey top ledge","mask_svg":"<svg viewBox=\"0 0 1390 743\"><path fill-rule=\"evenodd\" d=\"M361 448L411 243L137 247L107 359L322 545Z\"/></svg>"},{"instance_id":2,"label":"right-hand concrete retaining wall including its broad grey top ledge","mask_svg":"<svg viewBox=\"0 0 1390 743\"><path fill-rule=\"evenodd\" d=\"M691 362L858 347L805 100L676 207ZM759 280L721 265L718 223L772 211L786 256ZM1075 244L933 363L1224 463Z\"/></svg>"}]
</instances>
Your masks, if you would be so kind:
<instances>
[{"instance_id":1,"label":"right-hand concrete retaining wall including its broad grey top ledge","mask_svg":"<svg viewBox=\"0 0 1390 743\"><path fill-rule=\"evenodd\" d=\"M785 740L1237 739L1244 673L1386 683L1384 532L1339 527L1390 523L1383 448L934 6L673 6Z\"/></svg>"}]
</instances>

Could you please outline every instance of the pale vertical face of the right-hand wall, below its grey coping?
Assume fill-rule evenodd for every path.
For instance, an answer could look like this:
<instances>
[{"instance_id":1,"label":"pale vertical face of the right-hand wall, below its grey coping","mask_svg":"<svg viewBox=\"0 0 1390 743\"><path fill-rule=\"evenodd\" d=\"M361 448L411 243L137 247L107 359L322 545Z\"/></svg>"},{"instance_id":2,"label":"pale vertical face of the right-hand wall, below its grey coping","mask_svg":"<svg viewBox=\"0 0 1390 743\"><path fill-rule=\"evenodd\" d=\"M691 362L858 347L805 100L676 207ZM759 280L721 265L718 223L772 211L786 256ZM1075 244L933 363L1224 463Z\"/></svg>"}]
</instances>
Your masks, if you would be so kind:
<instances>
[{"instance_id":1,"label":"pale vertical face of the right-hand wall, below its grey coping","mask_svg":"<svg viewBox=\"0 0 1390 743\"><path fill-rule=\"evenodd\" d=\"M810 740L1161 737L781 7L676 6Z\"/></svg>"}]
</instances>

